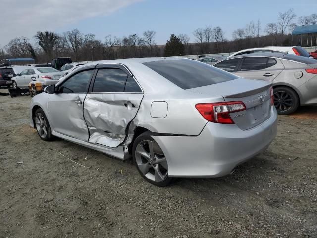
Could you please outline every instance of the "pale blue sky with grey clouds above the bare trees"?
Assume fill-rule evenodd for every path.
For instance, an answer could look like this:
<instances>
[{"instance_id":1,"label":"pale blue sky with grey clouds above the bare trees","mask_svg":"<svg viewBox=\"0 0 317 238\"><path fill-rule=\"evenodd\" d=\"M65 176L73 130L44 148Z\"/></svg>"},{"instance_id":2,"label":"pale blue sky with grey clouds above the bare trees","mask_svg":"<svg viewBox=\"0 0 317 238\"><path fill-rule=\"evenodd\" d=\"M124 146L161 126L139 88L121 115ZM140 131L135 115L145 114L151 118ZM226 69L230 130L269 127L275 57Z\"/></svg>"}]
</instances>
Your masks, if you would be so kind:
<instances>
[{"instance_id":1,"label":"pale blue sky with grey clouds above the bare trees","mask_svg":"<svg viewBox=\"0 0 317 238\"><path fill-rule=\"evenodd\" d=\"M78 28L104 41L155 30L155 41L165 44L171 33L192 32L206 25L220 26L231 39L232 31L251 20L265 24L277 20L278 12L294 8L297 16L317 13L317 0L0 0L0 47L19 36L37 31L63 33Z\"/></svg>"}]
</instances>

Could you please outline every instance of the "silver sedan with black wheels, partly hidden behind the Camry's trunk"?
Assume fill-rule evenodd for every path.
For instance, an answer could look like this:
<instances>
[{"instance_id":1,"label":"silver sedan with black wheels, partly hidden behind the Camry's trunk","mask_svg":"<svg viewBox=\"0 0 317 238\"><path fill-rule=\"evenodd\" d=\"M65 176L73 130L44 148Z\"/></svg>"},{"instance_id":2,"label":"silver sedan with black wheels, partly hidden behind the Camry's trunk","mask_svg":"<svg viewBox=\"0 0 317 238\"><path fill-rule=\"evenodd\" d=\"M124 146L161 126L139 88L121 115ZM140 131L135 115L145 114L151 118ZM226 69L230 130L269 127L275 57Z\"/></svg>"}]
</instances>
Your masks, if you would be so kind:
<instances>
[{"instance_id":1,"label":"silver sedan with black wheels, partly hidden behind the Camry's trunk","mask_svg":"<svg viewBox=\"0 0 317 238\"><path fill-rule=\"evenodd\" d=\"M317 60L283 53L254 53L213 65L237 76L273 84L277 112L288 115L300 105L317 105Z\"/></svg>"}]
</instances>

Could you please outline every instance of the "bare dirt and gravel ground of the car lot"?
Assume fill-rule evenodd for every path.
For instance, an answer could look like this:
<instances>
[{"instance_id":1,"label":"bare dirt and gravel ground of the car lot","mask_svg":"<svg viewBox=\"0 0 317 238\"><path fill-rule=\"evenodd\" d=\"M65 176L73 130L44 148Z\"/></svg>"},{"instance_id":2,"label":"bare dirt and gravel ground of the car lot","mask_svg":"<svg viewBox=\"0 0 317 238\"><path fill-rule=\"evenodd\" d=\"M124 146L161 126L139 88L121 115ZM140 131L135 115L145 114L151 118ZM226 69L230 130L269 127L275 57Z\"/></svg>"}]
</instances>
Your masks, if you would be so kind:
<instances>
[{"instance_id":1,"label":"bare dirt and gravel ground of the car lot","mask_svg":"<svg viewBox=\"0 0 317 238\"><path fill-rule=\"evenodd\" d=\"M317 237L317 107L279 116L267 151L233 175L159 188L131 162L42 141L29 103L0 96L0 238Z\"/></svg>"}]
</instances>

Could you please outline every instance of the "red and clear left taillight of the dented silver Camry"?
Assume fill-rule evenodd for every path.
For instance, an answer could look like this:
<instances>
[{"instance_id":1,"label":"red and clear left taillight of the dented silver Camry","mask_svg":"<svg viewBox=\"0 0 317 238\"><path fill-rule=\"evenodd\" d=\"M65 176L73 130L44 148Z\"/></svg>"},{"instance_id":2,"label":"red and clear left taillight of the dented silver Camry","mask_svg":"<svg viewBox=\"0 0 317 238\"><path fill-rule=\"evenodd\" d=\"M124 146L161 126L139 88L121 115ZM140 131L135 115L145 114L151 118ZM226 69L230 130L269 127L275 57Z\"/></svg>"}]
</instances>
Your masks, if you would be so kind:
<instances>
[{"instance_id":1,"label":"red and clear left taillight of the dented silver Camry","mask_svg":"<svg viewBox=\"0 0 317 238\"><path fill-rule=\"evenodd\" d=\"M241 101L227 103L198 103L196 109L208 121L222 124L234 124L230 113L246 110Z\"/></svg>"}]
</instances>

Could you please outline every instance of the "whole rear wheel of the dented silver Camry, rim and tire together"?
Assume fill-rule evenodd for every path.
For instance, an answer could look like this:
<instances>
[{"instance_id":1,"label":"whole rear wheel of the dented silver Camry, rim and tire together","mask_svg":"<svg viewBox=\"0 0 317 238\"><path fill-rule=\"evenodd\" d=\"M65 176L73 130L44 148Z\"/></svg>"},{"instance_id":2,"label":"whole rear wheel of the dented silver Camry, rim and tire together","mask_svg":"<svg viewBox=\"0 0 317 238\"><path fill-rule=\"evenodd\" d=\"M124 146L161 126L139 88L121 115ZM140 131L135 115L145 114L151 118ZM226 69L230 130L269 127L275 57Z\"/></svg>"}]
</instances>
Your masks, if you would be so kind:
<instances>
[{"instance_id":1,"label":"whole rear wheel of the dented silver Camry, rim and tire together","mask_svg":"<svg viewBox=\"0 0 317 238\"><path fill-rule=\"evenodd\" d=\"M159 144L150 132L139 135L133 143L133 162L141 176L157 186L167 186L172 178L168 176L168 165Z\"/></svg>"}]
</instances>

